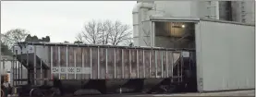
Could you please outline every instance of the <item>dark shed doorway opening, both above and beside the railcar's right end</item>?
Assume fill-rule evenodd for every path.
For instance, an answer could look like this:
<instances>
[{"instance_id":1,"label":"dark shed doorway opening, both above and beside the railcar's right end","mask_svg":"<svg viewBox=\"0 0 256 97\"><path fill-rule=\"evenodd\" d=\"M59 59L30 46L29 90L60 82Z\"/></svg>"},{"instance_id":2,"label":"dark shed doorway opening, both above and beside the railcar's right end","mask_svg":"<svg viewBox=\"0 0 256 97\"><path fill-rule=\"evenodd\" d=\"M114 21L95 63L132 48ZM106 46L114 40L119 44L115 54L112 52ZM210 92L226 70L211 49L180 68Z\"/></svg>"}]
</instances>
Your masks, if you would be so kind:
<instances>
[{"instance_id":1,"label":"dark shed doorway opening, both above and beside the railcar's right end","mask_svg":"<svg viewBox=\"0 0 256 97\"><path fill-rule=\"evenodd\" d=\"M189 49L195 51L195 22L154 22L154 45L156 47ZM185 86L180 86L177 92L197 91L196 53L190 52L189 58L183 58L182 74Z\"/></svg>"}]
</instances>

